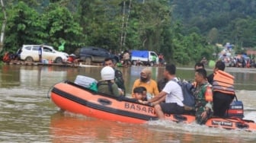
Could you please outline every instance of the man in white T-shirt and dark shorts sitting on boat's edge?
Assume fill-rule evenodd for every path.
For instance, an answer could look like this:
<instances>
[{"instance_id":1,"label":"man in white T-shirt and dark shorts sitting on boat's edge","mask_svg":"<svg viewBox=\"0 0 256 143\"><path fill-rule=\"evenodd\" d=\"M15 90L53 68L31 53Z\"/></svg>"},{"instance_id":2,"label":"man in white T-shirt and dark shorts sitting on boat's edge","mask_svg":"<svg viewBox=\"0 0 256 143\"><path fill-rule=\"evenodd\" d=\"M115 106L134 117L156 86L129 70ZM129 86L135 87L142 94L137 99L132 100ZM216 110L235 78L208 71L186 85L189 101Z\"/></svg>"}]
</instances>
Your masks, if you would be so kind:
<instances>
[{"instance_id":1,"label":"man in white T-shirt and dark shorts sitting on boat's edge","mask_svg":"<svg viewBox=\"0 0 256 143\"><path fill-rule=\"evenodd\" d=\"M175 76L175 65L166 65L164 76L168 79L163 90L154 98L144 103L150 103L155 108L155 113L159 119L165 119L164 113L182 114L184 113L184 100L181 86L177 83L178 78ZM165 102L162 102L165 101Z\"/></svg>"}]
</instances>

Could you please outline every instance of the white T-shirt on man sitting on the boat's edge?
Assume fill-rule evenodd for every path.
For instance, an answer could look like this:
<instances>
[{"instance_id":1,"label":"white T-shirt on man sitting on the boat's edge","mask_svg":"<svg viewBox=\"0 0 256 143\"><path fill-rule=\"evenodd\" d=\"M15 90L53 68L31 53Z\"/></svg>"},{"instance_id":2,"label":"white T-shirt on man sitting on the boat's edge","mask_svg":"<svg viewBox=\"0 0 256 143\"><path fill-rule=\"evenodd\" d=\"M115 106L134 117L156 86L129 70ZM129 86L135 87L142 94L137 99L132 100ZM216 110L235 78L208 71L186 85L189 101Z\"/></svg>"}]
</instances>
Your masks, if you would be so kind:
<instances>
[{"instance_id":1,"label":"white T-shirt on man sitting on the boat's edge","mask_svg":"<svg viewBox=\"0 0 256 143\"><path fill-rule=\"evenodd\" d=\"M162 91L167 93L165 97L165 103L177 103L179 106L184 106L182 101L184 100L181 86L176 82L177 78L174 78L175 81L168 81L165 84L165 87Z\"/></svg>"}]
</instances>

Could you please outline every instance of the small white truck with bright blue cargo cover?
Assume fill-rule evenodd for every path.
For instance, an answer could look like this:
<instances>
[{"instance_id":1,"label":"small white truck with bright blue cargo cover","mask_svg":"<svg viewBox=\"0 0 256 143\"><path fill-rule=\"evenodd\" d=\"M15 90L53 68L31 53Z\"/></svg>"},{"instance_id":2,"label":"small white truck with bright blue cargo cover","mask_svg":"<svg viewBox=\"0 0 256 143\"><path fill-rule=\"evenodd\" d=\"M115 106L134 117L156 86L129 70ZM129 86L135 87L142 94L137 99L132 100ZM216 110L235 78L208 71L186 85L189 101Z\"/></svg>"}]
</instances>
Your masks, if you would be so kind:
<instances>
[{"instance_id":1,"label":"small white truck with bright blue cargo cover","mask_svg":"<svg viewBox=\"0 0 256 143\"><path fill-rule=\"evenodd\" d=\"M150 66L158 65L158 55L155 52L148 50L132 50L131 62L133 65L137 65L138 63Z\"/></svg>"}]
</instances>

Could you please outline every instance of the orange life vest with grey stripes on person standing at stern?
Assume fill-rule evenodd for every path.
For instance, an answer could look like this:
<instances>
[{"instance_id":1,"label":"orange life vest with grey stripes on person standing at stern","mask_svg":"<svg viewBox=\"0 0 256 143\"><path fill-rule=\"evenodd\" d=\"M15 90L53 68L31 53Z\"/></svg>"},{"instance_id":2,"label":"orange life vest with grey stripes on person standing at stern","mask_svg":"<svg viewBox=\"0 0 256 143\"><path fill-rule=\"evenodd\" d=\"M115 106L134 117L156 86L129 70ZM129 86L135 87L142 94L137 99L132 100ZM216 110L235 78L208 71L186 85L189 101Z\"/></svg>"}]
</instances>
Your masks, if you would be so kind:
<instances>
[{"instance_id":1,"label":"orange life vest with grey stripes on person standing at stern","mask_svg":"<svg viewBox=\"0 0 256 143\"><path fill-rule=\"evenodd\" d=\"M216 71L213 77L213 91L235 95L234 79L234 76L225 71Z\"/></svg>"}]
</instances>

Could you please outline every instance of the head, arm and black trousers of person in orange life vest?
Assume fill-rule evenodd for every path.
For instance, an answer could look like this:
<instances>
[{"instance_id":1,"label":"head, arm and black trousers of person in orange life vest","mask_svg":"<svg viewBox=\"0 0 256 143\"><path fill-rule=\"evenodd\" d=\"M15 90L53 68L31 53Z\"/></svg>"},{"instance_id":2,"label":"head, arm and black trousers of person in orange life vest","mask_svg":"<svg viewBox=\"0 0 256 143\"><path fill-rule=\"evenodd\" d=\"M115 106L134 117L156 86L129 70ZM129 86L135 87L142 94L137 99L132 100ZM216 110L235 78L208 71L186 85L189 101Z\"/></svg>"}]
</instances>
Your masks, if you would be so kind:
<instances>
[{"instance_id":1,"label":"head, arm and black trousers of person in orange life vest","mask_svg":"<svg viewBox=\"0 0 256 143\"><path fill-rule=\"evenodd\" d=\"M229 105L234 99L234 94L227 94L225 91L215 91L214 88L214 74L218 70L224 71L226 65L222 61L216 62L215 68L213 68L213 74L207 77L210 84L213 85L213 116L225 116L226 110L229 109Z\"/></svg>"}]
</instances>

